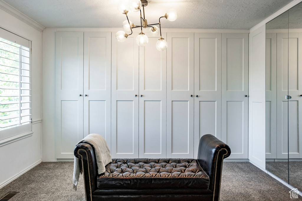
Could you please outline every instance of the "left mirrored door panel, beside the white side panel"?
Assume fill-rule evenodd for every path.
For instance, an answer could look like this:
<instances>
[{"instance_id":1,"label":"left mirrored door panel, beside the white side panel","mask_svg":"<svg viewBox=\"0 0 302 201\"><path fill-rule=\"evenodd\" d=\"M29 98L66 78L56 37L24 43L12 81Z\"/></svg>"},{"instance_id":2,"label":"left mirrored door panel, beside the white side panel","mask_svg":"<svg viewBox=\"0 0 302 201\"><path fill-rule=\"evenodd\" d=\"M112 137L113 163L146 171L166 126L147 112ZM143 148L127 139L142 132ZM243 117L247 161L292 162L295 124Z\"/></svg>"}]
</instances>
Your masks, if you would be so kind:
<instances>
[{"instance_id":1,"label":"left mirrored door panel, beside the white side panel","mask_svg":"<svg viewBox=\"0 0 302 201\"><path fill-rule=\"evenodd\" d=\"M288 182L289 11L266 24L266 170Z\"/></svg>"}]
</instances>

